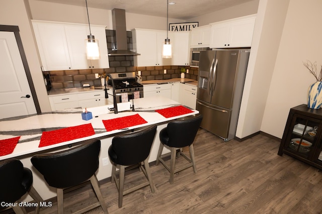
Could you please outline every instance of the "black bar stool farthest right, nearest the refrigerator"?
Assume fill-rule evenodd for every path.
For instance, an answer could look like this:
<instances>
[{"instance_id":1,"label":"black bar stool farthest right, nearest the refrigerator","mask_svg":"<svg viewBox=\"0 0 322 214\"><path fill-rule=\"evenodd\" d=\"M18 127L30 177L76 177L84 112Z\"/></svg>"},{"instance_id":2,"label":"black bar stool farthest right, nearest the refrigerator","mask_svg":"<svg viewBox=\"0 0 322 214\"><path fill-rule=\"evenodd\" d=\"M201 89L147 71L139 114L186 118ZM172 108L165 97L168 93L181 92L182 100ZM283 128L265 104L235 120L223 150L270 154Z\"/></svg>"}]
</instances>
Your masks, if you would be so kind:
<instances>
[{"instance_id":1,"label":"black bar stool farthest right, nearest the refrigerator","mask_svg":"<svg viewBox=\"0 0 322 214\"><path fill-rule=\"evenodd\" d=\"M193 167L194 173L197 173L195 154L192 143L195 140L199 126L202 121L202 115L196 116L189 120L178 120L169 122L168 126L160 131L160 146L157 153L155 165L161 162L166 169L170 172L170 183L173 183L175 173L180 172L189 167ZM170 167L162 159L161 154L163 147L169 147L171 151L171 164ZM181 151L183 147L189 146L190 159ZM189 164L180 168L175 168L176 156L181 154Z\"/></svg>"}]
</instances>

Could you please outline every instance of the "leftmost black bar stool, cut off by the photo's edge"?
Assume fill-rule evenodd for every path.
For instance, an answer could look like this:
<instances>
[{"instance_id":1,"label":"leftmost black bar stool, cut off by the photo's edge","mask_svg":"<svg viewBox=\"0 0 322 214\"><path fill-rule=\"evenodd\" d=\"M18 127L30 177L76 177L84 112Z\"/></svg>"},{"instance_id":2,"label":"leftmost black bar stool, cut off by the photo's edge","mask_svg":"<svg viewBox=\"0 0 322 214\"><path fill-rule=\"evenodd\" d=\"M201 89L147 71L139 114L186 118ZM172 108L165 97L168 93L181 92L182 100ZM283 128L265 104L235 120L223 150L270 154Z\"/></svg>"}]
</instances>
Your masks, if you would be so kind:
<instances>
[{"instance_id":1,"label":"leftmost black bar stool, cut off by the photo's edge","mask_svg":"<svg viewBox=\"0 0 322 214\"><path fill-rule=\"evenodd\" d=\"M33 176L30 169L25 168L20 160L11 159L0 162L0 202L14 203L12 206L16 213L27 213L19 206L20 198L28 194L38 203L35 213L39 213L41 196L32 186ZM0 206L0 210L6 206Z\"/></svg>"}]
</instances>

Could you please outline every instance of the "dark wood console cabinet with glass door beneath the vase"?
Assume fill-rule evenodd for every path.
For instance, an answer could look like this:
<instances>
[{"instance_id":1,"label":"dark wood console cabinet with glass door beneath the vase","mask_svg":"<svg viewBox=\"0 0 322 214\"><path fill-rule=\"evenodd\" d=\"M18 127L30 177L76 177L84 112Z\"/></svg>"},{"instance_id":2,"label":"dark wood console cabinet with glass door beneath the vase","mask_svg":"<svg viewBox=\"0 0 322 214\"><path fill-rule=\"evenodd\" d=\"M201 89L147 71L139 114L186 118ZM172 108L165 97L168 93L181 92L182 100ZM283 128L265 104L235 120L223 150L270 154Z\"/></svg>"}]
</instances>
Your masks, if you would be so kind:
<instances>
[{"instance_id":1,"label":"dark wood console cabinet with glass door beneath the vase","mask_svg":"<svg viewBox=\"0 0 322 214\"><path fill-rule=\"evenodd\" d=\"M321 151L322 109L310 109L306 104L290 109L278 155L284 153L322 169Z\"/></svg>"}]
</instances>

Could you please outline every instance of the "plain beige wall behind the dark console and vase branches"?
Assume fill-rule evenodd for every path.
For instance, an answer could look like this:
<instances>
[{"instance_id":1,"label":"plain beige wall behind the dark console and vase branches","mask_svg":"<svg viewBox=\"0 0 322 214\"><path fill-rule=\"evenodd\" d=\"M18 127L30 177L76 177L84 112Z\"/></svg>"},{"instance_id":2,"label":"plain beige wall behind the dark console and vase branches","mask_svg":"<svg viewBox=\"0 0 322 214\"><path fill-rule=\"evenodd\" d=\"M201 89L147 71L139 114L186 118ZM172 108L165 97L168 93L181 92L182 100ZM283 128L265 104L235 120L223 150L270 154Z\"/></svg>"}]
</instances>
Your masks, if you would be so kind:
<instances>
[{"instance_id":1,"label":"plain beige wall behind the dark console and vase branches","mask_svg":"<svg viewBox=\"0 0 322 214\"><path fill-rule=\"evenodd\" d=\"M282 138L289 109L306 104L308 86L315 78L303 61L322 64L322 1L291 0L277 53L261 130Z\"/></svg>"}]
</instances>

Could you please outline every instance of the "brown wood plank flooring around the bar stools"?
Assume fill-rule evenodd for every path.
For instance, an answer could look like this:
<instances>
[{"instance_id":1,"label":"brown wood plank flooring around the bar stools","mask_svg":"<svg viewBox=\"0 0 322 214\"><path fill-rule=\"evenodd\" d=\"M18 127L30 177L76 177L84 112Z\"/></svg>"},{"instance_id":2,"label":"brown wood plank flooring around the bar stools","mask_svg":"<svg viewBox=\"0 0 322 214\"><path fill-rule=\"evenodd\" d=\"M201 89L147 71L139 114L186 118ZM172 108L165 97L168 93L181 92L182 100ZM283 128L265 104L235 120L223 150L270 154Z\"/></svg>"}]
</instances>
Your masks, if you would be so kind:
<instances>
[{"instance_id":1,"label":"brown wood plank flooring around the bar stools","mask_svg":"<svg viewBox=\"0 0 322 214\"><path fill-rule=\"evenodd\" d=\"M101 191L109 213L321 213L321 171L287 155L278 156L278 147L278 141L264 135L225 143L200 129L194 142L196 174L186 169L170 184L164 166L152 166L155 193L146 186L125 195L122 208L114 183L101 184ZM125 182L140 181L141 174L129 174ZM89 185L64 197L65 213L97 201ZM56 212L55 202L40 210ZM97 207L87 213L103 210Z\"/></svg>"}]
</instances>

